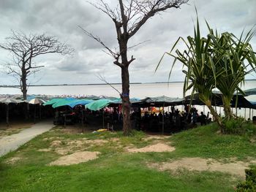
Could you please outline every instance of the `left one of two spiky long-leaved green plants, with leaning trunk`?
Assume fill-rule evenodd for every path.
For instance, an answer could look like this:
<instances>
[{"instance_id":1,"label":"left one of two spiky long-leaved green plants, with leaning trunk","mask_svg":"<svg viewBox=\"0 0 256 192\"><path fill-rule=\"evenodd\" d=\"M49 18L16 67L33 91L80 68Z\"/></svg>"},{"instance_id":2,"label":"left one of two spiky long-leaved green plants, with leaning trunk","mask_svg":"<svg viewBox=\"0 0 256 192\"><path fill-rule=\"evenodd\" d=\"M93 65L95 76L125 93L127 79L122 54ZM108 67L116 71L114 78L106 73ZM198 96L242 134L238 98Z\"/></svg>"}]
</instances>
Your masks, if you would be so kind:
<instances>
[{"instance_id":1,"label":"left one of two spiky long-leaved green plants, with leaning trunk","mask_svg":"<svg viewBox=\"0 0 256 192\"><path fill-rule=\"evenodd\" d=\"M187 39L179 37L178 40L173 45L169 53L165 53L174 58L173 65L171 66L170 74L172 73L173 66L175 64L182 64L184 74L186 77L184 79L184 96L186 92L192 89L192 98L195 93L198 93L199 99L203 101L204 104L211 111L211 115L217 121L220 127L222 127L222 120L220 119L214 107L211 104L212 90L216 88L217 77L223 72L217 69L214 62L219 61L224 53L214 54L214 42L217 41L213 35L208 35L207 37L201 37L200 25L197 18L197 25L194 26L194 37L189 36ZM173 50L176 48L178 42L184 42L187 47L186 50L180 51ZM162 58L165 56L162 56ZM162 61L159 61L159 64ZM179 61L177 63L177 61ZM157 69L159 67L157 65ZM156 69L156 70L157 70Z\"/></svg>"}]
</instances>

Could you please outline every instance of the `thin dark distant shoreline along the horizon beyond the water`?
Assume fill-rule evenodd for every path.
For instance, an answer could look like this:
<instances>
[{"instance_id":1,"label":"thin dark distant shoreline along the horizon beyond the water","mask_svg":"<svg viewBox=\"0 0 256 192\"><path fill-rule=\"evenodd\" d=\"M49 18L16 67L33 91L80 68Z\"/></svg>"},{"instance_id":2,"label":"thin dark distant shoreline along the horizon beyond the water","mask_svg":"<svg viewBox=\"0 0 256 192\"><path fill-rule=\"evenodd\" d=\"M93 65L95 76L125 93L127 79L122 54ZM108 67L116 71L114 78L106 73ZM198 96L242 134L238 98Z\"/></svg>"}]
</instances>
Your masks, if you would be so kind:
<instances>
[{"instance_id":1,"label":"thin dark distant shoreline along the horizon beyond the water","mask_svg":"<svg viewBox=\"0 0 256 192\"><path fill-rule=\"evenodd\" d=\"M256 79L255 79L256 80ZM255 80L245 80L245 81L255 81ZM160 84L160 83L176 83L183 81L172 81L172 82L130 82L130 85L137 84ZM111 85L121 85L121 82L113 82ZM108 85L107 83L78 83L78 84L49 84L49 85L29 85L30 87L50 87L50 86L80 86L80 85ZM0 85L0 88L19 88L19 85Z\"/></svg>"}]
</instances>

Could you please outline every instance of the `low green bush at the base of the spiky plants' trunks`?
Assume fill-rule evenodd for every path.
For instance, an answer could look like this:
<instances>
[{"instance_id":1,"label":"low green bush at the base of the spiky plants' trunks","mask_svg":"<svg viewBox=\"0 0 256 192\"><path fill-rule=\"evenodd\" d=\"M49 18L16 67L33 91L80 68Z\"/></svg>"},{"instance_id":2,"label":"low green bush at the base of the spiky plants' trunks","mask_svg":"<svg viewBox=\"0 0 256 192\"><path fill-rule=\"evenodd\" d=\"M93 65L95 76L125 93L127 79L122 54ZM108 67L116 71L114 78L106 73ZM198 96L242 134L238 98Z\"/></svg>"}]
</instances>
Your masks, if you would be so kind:
<instances>
[{"instance_id":1,"label":"low green bush at the base of the spiky plants' trunks","mask_svg":"<svg viewBox=\"0 0 256 192\"><path fill-rule=\"evenodd\" d=\"M249 136L256 134L256 126L244 118L224 120L223 123L225 134L247 134Z\"/></svg>"}]
</instances>

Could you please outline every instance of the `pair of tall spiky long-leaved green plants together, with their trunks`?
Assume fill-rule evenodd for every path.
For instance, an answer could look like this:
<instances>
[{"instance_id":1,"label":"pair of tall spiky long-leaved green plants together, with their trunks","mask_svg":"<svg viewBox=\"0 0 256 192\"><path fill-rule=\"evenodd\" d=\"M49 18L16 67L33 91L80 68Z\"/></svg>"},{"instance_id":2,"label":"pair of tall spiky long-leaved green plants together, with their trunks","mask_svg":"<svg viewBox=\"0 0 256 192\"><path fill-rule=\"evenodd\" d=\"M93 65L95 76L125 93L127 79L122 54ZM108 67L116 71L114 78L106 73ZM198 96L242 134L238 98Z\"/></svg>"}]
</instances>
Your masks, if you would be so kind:
<instances>
[{"instance_id":1,"label":"pair of tall spiky long-leaved green plants together, with their trunks","mask_svg":"<svg viewBox=\"0 0 256 192\"><path fill-rule=\"evenodd\" d=\"M222 93L225 120L234 118L230 107L233 94L236 92L244 94L239 86L244 82L246 74L256 71L255 52L252 50L252 45L249 44L255 32L251 29L243 39L244 32L241 37L237 38L229 32L218 34L215 31L214 33L207 21L206 25L209 33L207 37L201 37L197 18L197 25L194 26L194 37L189 36L187 39L179 37L170 52L164 55L167 54L174 58L169 79L173 66L176 63L182 64L182 72L186 74L184 96L188 90L192 89L192 101L194 94L198 93L200 101L206 104L223 133L225 132L225 124L229 126L226 131L230 131L230 128L233 129L233 122L223 124L222 119L211 104L212 90L218 88ZM174 51L178 42L184 42L186 49Z\"/></svg>"}]
</instances>

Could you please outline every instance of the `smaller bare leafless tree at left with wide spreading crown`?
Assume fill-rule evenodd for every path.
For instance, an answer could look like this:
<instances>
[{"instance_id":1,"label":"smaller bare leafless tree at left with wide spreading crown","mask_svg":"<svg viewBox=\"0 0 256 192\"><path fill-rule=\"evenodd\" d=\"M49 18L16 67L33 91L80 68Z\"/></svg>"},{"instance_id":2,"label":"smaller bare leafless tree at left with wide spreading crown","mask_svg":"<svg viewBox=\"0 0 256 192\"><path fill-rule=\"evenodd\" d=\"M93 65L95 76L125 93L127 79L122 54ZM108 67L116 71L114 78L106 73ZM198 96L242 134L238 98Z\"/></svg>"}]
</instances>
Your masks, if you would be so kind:
<instances>
[{"instance_id":1,"label":"smaller bare leafless tree at left with wide spreading crown","mask_svg":"<svg viewBox=\"0 0 256 192\"><path fill-rule=\"evenodd\" d=\"M44 67L37 66L33 62L34 58L48 53L66 55L73 51L69 45L59 42L56 37L46 34L26 35L18 31L12 31L12 35L6 38L5 43L0 44L0 48L9 50L12 54L13 62L7 64L7 73L12 74L18 80L24 100L29 86L27 78Z\"/></svg>"}]
</instances>

